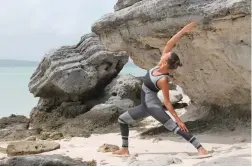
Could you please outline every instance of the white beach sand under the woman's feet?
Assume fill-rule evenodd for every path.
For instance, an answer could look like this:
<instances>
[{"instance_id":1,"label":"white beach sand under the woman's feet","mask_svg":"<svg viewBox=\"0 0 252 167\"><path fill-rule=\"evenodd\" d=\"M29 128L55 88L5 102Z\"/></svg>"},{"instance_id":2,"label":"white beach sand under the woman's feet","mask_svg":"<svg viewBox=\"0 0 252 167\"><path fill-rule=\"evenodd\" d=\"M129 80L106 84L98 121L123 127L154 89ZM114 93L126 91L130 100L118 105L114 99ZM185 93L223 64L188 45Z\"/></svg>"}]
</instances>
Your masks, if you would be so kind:
<instances>
[{"instance_id":1,"label":"white beach sand under the woman's feet","mask_svg":"<svg viewBox=\"0 0 252 167\"><path fill-rule=\"evenodd\" d=\"M127 165L130 161L140 161L157 159L160 156L173 156L182 160L181 164L171 165L251 165L251 142L250 135L239 130L232 133L211 133L196 135L203 146L208 150L213 150L213 156L205 159L191 159L190 156L183 157L183 152L196 154L194 147L181 137L155 136L148 139L140 139L136 131L130 131L130 152L131 157L113 157L111 153L97 152L99 146L104 143L120 146L121 139L117 133L92 135L89 138L75 137L70 140L63 139L56 142L61 144L61 148L43 154L61 154L72 158L81 158L85 161L92 159L97 161L97 165ZM153 143L154 138L162 140ZM245 142L237 142L237 138L245 139ZM0 147L6 147L7 142L0 143ZM132 158L135 154L137 157ZM0 153L0 158L6 157Z\"/></svg>"}]
</instances>

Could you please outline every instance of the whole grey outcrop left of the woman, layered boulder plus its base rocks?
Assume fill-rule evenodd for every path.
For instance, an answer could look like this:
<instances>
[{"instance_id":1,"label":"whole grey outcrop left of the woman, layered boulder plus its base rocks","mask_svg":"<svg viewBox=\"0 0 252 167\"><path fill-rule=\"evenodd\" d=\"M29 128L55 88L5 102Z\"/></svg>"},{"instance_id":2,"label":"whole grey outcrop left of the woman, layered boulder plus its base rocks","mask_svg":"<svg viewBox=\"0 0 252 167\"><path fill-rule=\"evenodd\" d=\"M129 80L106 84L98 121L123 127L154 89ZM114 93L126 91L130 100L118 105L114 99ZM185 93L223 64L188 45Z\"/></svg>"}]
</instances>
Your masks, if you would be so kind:
<instances>
[{"instance_id":1,"label":"whole grey outcrop left of the woman, layered boulder plus its base rocks","mask_svg":"<svg viewBox=\"0 0 252 167\"><path fill-rule=\"evenodd\" d=\"M96 127L95 119L102 125L113 123L106 121L137 103L132 100L138 98L141 81L133 76L117 77L127 61L126 52L107 51L94 33L84 35L77 45L46 54L29 83L30 92L40 97L30 113L30 127L40 129L39 138L46 140L63 137L50 137L54 131L89 136ZM121 86L115 85L117 80L122 81ZM123 104L115 105L117 102Z\"/></svg>"}]
</instances>

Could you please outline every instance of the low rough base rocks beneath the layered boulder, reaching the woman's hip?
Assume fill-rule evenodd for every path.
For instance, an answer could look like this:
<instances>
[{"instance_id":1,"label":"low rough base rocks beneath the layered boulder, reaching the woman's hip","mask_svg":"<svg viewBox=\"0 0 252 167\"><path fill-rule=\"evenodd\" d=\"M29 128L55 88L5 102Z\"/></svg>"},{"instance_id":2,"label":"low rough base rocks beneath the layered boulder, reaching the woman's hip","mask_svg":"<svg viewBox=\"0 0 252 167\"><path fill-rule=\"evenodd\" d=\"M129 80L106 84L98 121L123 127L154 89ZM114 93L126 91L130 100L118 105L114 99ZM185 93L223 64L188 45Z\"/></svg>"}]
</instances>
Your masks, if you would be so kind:
<instances>
[{"instance_id":1,"label":"low rough base rocks beneath the layered boulder, reaching the woman's hip","mask_svg":"<svg viewBox=\"0 0 252 167\"><path fill-rule=\"evenodd\" d=\"M54 106L55 101L40 100L38 107L30 113L30 125L46 131L40 134L42 140L54 139L50 137L51 131L80 137L88 137L94 131L104 133L109 130L107 126L117 123L119 114L139 104L141 84L137 77L119 75L96 98L84 104L63 102L51 112L43 109Z\"/></svg>"}]
</instances>

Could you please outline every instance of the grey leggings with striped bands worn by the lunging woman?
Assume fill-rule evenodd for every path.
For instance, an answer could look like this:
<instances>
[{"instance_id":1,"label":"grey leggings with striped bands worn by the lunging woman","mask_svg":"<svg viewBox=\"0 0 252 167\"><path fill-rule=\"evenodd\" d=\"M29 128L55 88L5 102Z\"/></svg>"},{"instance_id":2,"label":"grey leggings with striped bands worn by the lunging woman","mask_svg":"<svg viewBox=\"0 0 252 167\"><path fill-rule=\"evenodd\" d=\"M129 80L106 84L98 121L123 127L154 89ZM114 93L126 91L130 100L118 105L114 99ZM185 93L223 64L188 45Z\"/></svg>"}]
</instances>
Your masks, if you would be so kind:
<instances>
[{"instance_id":1,"label":"grey leggings with striped bands worn by the lunging woman","mask_svg":"<svg viewBox=\"0 0 252 167\"><path fill-rule=\"evenodd\" d=\"M171 119L166 113L162 102L157 97L157 93L148 89L144 84L141 92L141 104L133 109L128 110L119 116L118 122L120 124L120 130L122 135L122 147L128 147L129 127L128 125L133 122L152 116L169 131L179 134L185 140L193 144L198 149L201 144L196 138L188 132L182 131L178 125Z\"/></svg>"}]
</instances>

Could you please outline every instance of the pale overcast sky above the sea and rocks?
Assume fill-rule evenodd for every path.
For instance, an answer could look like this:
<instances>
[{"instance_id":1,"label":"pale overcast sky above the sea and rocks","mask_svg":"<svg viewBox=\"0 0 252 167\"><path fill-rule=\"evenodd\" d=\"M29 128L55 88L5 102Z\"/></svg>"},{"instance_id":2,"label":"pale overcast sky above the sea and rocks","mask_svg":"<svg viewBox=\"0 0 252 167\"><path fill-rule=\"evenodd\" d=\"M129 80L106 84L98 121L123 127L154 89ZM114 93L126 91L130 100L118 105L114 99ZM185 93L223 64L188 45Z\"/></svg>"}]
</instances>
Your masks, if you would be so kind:
<instances>
[{"instance_id":1,"label":"pale overcast sky above the sea and rocks","mask_svg":"<svg viewBox=\"0 0 252 167\"><path fill-rule=\"evenodd\" d=\"M40 61L76 44L117 0L0 0L0 59Z\"/></svg>"}]
</instances>

